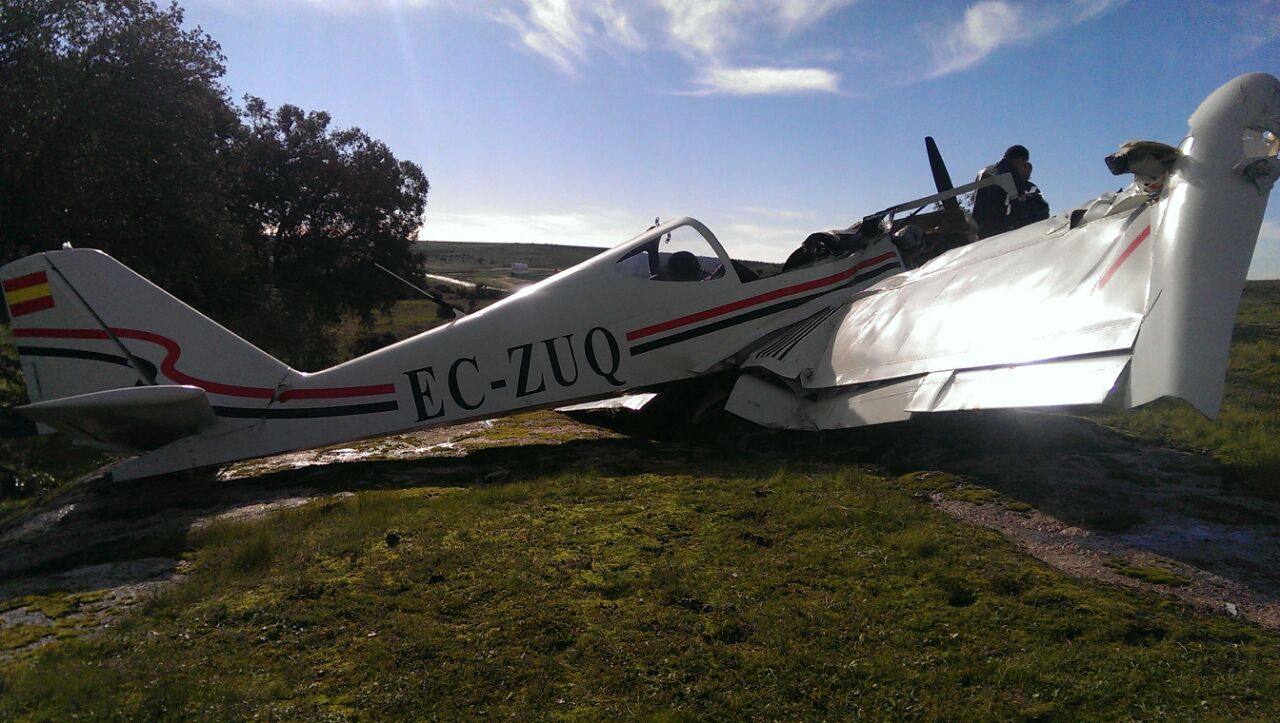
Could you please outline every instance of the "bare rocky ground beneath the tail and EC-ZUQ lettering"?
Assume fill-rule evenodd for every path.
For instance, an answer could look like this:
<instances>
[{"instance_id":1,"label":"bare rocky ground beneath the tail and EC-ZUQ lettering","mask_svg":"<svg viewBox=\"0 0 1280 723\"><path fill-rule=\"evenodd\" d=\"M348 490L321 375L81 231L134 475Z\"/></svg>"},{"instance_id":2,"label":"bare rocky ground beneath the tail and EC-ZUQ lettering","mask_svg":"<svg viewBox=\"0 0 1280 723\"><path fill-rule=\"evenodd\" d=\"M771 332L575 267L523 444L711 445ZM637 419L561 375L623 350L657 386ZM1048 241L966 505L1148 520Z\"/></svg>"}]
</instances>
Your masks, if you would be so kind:
<instances>
[{"instance_id":1,"label":"bare rocky ground beneath the tail and EC-ZUQ lettering","mask_svg":"<svg viewBox=\"0 0 1280 723\"><path fill-rule=\"evenodd\" d=\"M187 535L215 522L375 486L492 484L512 471L488 463L485 450L617 436L543 413L252 459L216 473L86 480L0 527L0 656L109 630L182 581Z\"/></svg>"}]
</instances>

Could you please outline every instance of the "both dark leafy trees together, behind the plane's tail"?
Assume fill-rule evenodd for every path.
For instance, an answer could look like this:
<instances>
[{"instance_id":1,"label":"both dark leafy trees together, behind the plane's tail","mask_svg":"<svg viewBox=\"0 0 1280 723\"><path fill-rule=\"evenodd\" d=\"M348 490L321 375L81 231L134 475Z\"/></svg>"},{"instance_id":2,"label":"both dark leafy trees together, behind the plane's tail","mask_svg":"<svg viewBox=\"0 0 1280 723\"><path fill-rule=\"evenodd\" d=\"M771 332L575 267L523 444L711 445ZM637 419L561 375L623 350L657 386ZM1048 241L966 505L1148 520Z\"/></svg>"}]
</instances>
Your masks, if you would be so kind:
<instances>
[{"instance_id":1,"label":"both dark leafy trees together, behind the plane's tail","mask_svg":"<svg viewBox=\"0 0 1280 723\"><path fill-rule=\"evenodd\" d=\"M300 365L417 278L422 170L326 113L237 107L177 4L0 3L0 258L102 248ZM332 356L332 354L330 354Z\"/></svg>"}]
</instances>

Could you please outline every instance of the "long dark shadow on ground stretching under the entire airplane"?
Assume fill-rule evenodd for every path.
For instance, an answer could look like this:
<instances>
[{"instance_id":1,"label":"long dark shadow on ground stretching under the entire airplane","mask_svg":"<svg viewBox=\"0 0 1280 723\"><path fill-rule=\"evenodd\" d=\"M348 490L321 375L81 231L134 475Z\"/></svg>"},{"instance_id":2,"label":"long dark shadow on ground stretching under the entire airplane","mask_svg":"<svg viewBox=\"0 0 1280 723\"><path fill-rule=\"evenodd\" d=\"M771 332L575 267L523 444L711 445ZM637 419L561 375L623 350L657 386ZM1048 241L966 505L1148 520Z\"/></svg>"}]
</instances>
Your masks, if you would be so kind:
<instances>
[{"instance_id":1,"label":"long dark shadow on ground stretching under the entire airplane","mask_svg":"<svg viewBox=\"0 0 1280 723\"><path fill-rule=\"evenodd\" d=\"M376 461L361 461L343 448L275 458L242 471L256 476L238 479L204 472L131 482L83 480L0 526L0 600L168 575L192 530L210 520L251 517L323 495L471 486L581 468L696 473L714 465L765 475L778 467L859 465L895 476L947 472L1021 503L1019 509L1034 508L1014 513L1012 505L956 503L948 512L1000 528L1069 572L1087 573L1055 560L1059 552L1083 550L1097 566L1117 555L1158 555L1204 571L1211 584L1225 581L1228 590L1216 599L1244 596L1254 607L1280 607L1280 504L1244 494L1233 471L1212 459L1088 420L964 413L815 434L762 430L728 415L698 426L672 426L645 415L576 417L590 426L552 413L538 417L529 429L544 430L547 420L554 420L558 436L508 434L484 441L475 430L458 438L429 431L394 438L398 452ZM468 436L483 443L448 441ZM136 564L143 559L148 563ZM97 573L79 572L87 568Z\"/></svg>"}]
</instances>

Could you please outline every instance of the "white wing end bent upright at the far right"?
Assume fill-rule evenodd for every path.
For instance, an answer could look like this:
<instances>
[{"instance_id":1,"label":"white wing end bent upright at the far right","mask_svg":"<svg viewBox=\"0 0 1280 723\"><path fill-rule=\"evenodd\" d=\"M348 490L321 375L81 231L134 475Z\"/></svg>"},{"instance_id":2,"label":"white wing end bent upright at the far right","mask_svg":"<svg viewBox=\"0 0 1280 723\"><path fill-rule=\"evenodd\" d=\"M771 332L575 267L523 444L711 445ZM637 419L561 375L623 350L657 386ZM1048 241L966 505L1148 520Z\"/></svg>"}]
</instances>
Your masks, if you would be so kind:
<instances>
[{"instance_id":1,"label":"white wing end bent upright at the far right","mask_svg":"<svg viewBox=\"0 0 1280 723\"><path fill-rule=\"evenodd\" d=\"M1152 234L1155 302L1134 349L1130 402L1175 395L1216 417L1270 195L1242 161L1275 154L1280 81L1266 73L1234 78L1204 99L1189 125Z\"/></svg>"}]
</instances>

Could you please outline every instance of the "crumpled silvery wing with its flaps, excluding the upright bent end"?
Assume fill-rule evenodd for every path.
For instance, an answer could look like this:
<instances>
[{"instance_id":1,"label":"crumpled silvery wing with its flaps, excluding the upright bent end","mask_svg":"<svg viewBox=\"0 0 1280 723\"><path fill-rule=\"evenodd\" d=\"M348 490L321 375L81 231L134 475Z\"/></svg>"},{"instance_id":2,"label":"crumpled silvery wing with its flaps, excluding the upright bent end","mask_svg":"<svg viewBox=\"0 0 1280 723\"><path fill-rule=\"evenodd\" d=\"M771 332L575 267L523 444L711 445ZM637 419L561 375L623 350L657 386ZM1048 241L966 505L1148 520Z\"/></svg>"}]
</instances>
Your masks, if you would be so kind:
<instances>
[{"instance_id":1,"label":"crumpled silvery wing with its flaps, excluding the upright bent end","mask_svg":"<svg viewBox=\"0 0 1280 723\"><path fill-rule=\"evenodd\" d=\"M1152 215L1078 229L1050 219L887 279L762 346L727 408L767 426L836 429L1101 403L1151 303Z\"/></svg>"}]
</instances>

